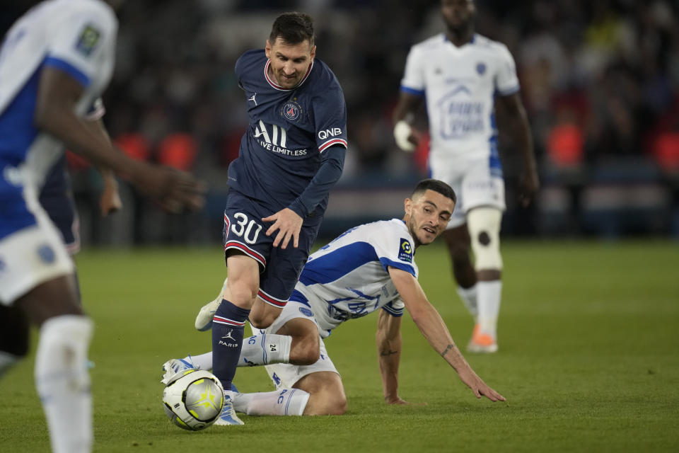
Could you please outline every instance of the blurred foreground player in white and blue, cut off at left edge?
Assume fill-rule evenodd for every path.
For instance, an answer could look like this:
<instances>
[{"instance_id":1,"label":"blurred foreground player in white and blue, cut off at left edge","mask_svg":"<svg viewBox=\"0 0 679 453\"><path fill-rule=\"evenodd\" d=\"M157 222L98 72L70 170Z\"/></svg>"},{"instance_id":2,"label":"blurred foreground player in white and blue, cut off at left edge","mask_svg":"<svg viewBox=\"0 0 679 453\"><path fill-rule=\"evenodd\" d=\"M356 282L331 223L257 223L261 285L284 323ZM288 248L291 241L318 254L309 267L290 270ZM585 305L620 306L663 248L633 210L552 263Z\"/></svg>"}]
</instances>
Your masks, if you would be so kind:
<instances>
[{"instance_id":1,"label":"blurred foreground player in white and blue, cut off at left edge","mask_svg":"<svg viewBox=\"0 0 679 453\"><path fill-rule=\"evenodd\" d=\"M202 205L202 185L170 168L133 161L83 118L114 66L117 19L100 0L47 0L0 47L0 374L40 329L35 384L52 450L90 452L87 350L92 321L74 288L74 264L37 200L64 146L129 179L173 212Z\"/></svg>"}]
</instances>

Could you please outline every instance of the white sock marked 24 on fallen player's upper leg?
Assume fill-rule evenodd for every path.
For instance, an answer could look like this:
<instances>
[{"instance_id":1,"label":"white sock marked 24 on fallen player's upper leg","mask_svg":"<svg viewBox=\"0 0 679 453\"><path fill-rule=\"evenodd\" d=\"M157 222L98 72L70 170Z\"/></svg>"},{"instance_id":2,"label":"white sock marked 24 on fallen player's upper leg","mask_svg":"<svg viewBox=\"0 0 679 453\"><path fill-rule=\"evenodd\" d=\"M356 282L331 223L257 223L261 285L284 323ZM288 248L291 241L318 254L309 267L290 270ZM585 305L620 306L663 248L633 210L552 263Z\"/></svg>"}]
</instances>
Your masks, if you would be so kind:
<instances>
[{"instance_id":1,"label":"white sock marked 24 on fallen player's upper leg","mask_svg":"<svg viewBox=\"0 0 679 453\"><path fill-rule=\"evenodd\" d=\"M292 337L276 333L262 333L243 338L243 348L238 358L239 367L255 367L274 363L290 362ZM184 360L197 369L212 369L212 352L201 355L187 355Z\"/></svg>"}]
</instances>

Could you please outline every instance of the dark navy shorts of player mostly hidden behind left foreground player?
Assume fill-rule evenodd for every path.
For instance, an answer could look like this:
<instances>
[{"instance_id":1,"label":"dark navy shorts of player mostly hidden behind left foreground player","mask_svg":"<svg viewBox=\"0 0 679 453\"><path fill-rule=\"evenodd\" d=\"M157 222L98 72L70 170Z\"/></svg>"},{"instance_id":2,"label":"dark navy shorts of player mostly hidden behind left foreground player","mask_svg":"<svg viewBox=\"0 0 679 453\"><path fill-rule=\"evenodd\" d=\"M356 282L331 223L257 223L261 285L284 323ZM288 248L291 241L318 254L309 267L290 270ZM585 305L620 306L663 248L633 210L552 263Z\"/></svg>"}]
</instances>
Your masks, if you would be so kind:
<instances>
[{"instance_id":1,"label":"dark navy shorts of player mostly hidden behind left foreground player","mask_svg":"<svg viewBox=\"0 0 679 453\"><path fill-rule=\"evenodd\" d=\"M65 154L54 163L45 177L45 185L40 191L40 205L62 234L66 250L71 255L76 253L80 248L80 232Z\"/></svg>"}]
</instances>

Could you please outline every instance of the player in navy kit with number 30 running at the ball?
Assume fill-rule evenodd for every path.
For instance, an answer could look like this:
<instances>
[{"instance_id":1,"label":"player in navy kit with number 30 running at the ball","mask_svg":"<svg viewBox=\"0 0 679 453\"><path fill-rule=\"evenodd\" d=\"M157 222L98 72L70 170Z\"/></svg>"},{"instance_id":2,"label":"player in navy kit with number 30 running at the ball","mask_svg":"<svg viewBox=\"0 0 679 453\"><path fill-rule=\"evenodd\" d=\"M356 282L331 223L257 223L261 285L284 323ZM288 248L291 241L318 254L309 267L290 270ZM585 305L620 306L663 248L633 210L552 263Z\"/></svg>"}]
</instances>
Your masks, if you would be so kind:
<instances>
[{"instance_id":1,"label":"player in navy kit with number 30 running at the ball","mask_svg":"<svg viewBox=\"0 0 679 453\"><path fill-rule=\"evenodd\" d=\"M249 50L236 62L250 124L228 168L228 281L212 329L213 372L224 389L231 389L236 373L245 320L265 328L282 311L318 233L330 188L342 174L344 95L315 55L311 17L284 13L265 49ZM228 395L216 424L242 424L231 417Z\"/></svg>"}]
</instances>

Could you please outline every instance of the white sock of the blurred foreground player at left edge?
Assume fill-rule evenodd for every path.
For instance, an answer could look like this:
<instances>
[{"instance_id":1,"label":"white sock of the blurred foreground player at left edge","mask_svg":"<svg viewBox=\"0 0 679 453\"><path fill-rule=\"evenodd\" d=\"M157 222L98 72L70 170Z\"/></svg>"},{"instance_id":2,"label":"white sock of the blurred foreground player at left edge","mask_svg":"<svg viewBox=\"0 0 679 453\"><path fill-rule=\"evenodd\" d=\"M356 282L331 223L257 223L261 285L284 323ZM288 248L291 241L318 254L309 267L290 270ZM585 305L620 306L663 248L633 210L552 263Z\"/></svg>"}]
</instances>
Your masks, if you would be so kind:
<instances>
[{"instance_id":1,"label":"white sock of the blurred foreground player at left edge","mask_svg":"<svg viewBox=\"0 0 679 453\"><path fill-rule=\"evenodd\" d=\"M40 328L35 385L54 453L92 450L92 395L87 369L92 331L92 321L77 315L56 316Z\"/></svg>"}]
</instances>

